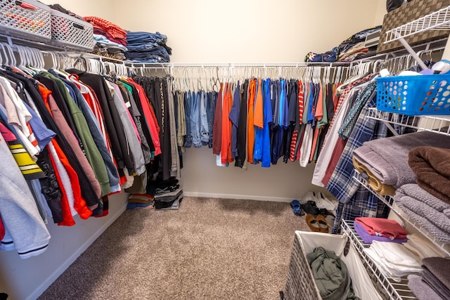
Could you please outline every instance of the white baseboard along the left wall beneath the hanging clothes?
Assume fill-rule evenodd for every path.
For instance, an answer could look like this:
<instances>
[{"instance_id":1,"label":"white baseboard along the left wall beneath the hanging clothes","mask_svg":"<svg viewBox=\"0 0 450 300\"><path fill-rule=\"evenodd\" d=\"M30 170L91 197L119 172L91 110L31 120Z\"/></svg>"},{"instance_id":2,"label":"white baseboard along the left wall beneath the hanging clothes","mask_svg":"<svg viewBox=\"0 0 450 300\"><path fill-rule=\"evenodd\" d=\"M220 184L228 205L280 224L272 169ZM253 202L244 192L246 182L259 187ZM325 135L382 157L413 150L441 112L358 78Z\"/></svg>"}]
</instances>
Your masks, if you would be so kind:
<instances>
[{"instance_id":1,"label":"white baseboard along the left wall beneath the hanging clothes","mask_svg":"<svg viewBox=\"0 0 450 300\"><path fill-rule=\"evenodd\" d=\"M30 296L27 297L27 300L34 300L37 299L39 296L41 296L42 293L46 291L50 287L50 285L61 275L63 272L70 267L70 265L78 258L78 256L82 255L84 251L95 241L97 238L111 225L119 216L127 209L127 203L124 204L123 207L117 211L112 218L110 218L106 223L103 224L94 235L91 235L89 237L89 240L86 240L84 244L82 244L77 251L68 257L68 259L61 264L59 268L57 268L50 276L49 278L46 278L44 282L42 282L41 285L37 289L30 294Z\"/></svg>"}]
</instances>

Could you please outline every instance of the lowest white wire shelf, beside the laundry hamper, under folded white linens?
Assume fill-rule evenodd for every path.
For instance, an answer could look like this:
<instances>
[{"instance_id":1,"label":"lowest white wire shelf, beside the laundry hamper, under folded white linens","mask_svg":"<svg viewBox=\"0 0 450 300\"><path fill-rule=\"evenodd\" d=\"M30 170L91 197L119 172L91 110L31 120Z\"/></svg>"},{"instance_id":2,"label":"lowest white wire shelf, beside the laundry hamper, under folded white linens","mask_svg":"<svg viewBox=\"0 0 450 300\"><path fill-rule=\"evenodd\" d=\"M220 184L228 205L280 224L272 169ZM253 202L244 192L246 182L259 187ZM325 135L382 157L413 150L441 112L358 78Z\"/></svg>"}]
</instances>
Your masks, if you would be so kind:
<instances>
[{"instance_id":1,"label":"lowest white wire shelf, beside the laundry hamper, under folded white linens","mask_svg":"<svg viewBox=\"0 0 450 300\"><path fill-rule=\"evenodd\" d=\"M359 256L363 260L364 266L368 269L369 276L371 277L375 288L385 299L417 299L414 296L411 289L408 287L408 279L401 278L400 282L387 277L376 266L372 259L364 252L364 248L368 248L370 245L364 243L361 237L354 231L354 221L342 220L341 223L342 232L349 237L349 240L354 245Z\"/></svg>"}]
</instances>

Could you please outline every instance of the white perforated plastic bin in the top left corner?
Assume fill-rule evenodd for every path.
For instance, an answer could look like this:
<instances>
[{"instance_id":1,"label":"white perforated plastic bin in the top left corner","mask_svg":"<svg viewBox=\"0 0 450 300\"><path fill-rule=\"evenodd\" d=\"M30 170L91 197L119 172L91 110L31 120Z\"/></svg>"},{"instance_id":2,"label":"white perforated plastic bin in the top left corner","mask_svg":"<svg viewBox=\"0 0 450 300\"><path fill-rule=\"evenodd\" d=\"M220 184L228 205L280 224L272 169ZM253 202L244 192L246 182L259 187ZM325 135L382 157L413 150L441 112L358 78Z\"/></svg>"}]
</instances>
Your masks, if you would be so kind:
<instances>
[{"instance_id":1,"label":"white perforated plastic bin in the top left corner","mask_svg":"<svg viewBox=\"0 0 450 300\"><path fill-rule=\"evenodd\" d=\"M49 6L34 0L0 0L0 32L32 41L50 41Z\"/></svg>"}]
</instances>

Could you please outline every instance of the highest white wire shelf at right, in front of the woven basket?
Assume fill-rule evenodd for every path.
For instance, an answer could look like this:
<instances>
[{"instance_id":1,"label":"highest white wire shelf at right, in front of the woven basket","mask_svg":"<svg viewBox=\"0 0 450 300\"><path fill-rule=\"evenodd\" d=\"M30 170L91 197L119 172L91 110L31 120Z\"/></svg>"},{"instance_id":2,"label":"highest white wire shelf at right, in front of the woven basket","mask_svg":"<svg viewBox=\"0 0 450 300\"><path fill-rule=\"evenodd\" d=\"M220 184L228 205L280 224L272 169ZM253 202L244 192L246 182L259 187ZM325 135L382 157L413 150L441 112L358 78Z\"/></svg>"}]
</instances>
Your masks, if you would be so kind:
<instances>
[{"instance_id":1,"label":"highest white wire shelf at right, in front of the woven basket","mask_svg":"<svg viewBox=\"0 0 450 300\"><path fill-rule=\"evenodd\" d=\"M404 25L386 32L385 43L404 39L419 32L427 30L449 30L450 29L450 6L439 9L434 13L413 20Z\"/></svg>"}]
</instances>

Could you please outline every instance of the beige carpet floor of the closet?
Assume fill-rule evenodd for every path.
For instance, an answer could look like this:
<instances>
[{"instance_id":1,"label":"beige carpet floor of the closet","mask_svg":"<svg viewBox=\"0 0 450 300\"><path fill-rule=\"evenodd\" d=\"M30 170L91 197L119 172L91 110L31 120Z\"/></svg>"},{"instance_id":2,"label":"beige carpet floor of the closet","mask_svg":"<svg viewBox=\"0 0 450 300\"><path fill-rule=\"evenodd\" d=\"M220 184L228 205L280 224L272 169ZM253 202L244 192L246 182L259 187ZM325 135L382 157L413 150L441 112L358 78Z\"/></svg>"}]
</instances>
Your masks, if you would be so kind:
<instances>
[{"instance_id":1,"label":"beige carpet floor of the closet","mask_svg":"<svg viewBox=\"0 0 450 300\"><path fill-rule=\"evenodd\" d=\"M289 203L185 197L178 211L125 211L39 299L280 299Z\"/></svg>"}]
</instances>

